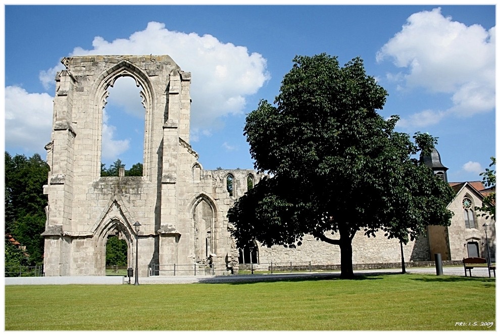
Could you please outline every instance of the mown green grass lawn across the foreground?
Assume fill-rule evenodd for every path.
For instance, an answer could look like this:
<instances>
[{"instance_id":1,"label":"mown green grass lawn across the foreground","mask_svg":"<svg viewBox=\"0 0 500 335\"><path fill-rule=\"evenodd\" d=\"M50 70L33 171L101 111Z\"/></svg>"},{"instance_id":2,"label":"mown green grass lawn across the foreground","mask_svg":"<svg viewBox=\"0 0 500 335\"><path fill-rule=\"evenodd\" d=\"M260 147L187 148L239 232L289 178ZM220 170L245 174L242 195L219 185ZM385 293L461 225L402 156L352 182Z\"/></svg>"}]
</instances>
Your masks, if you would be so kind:
<instances>
[{"instance_id":1,"label":"mown green grass lawn across the foreground","mask_svg":"<svg viewBox=\"0 0 500 335\"><path fill-rule=\"evenodd\" d=\"M6 330L495 330L494 321L494 278L5 286Z\"/></svg>"}]
</instances>

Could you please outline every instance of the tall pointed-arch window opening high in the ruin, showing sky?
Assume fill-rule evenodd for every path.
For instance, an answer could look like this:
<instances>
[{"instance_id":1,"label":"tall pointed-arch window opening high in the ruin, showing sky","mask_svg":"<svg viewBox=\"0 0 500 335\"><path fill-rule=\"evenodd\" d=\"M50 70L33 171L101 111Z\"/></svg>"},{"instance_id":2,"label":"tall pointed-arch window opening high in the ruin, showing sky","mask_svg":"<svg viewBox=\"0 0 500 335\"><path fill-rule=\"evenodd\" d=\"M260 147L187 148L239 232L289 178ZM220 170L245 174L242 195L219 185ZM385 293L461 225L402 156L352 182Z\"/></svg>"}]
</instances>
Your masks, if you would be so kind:
<instances>
[{"instance_id":1,"label":"tall pointed-arch window opening high in the ruin, showing sky","mask_svg":"<svg viewBox=\"0 0 500 335\"><path fill-rule=\"evenodd\" d=\"M101 164L120 159L125 169L144 164L145 107L143 88L129 76L119 77L107 89L103 106ZM143 175L142 172L141 175ZM116 175L118 176L118 175Z\"/></svg>"}]
</instances>

